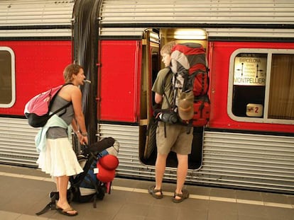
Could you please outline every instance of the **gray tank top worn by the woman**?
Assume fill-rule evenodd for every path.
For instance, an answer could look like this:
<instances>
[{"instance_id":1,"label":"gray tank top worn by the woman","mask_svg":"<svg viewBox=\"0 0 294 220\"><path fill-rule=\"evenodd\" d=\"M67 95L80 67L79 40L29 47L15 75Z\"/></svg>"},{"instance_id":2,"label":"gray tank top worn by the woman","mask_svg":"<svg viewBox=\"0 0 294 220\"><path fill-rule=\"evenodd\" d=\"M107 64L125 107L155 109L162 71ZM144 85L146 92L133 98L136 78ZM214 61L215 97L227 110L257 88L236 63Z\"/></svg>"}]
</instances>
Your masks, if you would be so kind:
<instances>
[{"instance_id":1,"label":"gray tank top worn by the woman","mask_svg":"<svg viewBox=\"0 0 294 220\"><path fill-rule=\"evenodd\" d=\"M59 95L56 95L56 98L51 108L51 112L58 110L67 103L69 103L67 100L61 98ZM64 120L67 123L67 125L70 125L70 123L72 122L72 118L74 117L72 105L68 106L64 110L61 110L57 113L57 115L60 116L62 120ZM48 129L47 138L56 139L60 137L67 137L67 129L64 129L62 127L50 127Z\"/></svg>"}]
</instances>

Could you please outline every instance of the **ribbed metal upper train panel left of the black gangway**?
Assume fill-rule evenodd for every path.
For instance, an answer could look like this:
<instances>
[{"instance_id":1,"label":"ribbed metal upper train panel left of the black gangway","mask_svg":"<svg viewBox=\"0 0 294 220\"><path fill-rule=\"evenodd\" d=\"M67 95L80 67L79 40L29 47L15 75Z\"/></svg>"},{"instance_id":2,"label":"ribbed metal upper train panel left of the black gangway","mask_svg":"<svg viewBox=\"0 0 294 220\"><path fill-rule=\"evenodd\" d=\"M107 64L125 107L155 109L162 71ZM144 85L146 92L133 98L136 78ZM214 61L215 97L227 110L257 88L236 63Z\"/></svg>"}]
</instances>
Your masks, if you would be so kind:
<instances>
[{"instance_id":1,"label":"ribbed metal upper train panel left of the black gangway","mask_svg":"<svg viewBox=\"0 0 294 220\"><path fill-rule=\"evenodd\" d=\"M0 1L0 37L70 37L73 5L74 1Z\"/></svg>"}]
</instances>

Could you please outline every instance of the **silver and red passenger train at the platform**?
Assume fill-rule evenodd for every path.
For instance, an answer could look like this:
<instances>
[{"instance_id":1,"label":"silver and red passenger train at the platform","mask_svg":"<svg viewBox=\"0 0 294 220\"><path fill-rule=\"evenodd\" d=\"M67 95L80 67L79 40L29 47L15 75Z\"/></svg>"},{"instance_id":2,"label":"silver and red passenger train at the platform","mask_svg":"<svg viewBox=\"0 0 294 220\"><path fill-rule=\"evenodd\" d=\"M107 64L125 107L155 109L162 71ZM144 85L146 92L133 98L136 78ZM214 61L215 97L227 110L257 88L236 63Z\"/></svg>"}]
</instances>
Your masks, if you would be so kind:
<instances>
[{"instance_id":1,"label":"silver and red passenger train at the platform","mask_svg":"<svg viewBox=\"0 0 294 220\"><path fill-rule=\"evenodd\" d=\"M293 14L293 0L0 1L0 163L37 168L24 105L75 62L91 81L81 86L90 143L114 137L117 176L154 180L156 152L144 152L160 48L197 42L211 112L194 128L186 184L293 194ZM176 166L170 153L165 182Z\"/></svg>"}]
</instances>

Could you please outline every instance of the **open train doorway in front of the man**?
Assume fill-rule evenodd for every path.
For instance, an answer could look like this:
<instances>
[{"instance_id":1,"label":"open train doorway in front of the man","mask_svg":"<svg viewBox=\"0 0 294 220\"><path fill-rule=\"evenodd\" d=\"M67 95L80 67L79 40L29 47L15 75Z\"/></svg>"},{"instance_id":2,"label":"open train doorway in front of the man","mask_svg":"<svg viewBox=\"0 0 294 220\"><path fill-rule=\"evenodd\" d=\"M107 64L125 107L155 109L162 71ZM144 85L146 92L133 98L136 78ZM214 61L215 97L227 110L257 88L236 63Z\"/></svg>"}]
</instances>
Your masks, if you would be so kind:
<instances>
[{"instance_id":1,"label":"open train doorway in front of the man","mask_svg":"<svg viewBox=\"0 0 294 220\"><path fill-rule=\"evenodd\" d=\"M160 28L153 30L152 33L146 33L144 37L145 49L143 47L143 57L142 57L142 68L143 72L146 73L145 79L146 83L143 85L147 86L147 90L143 91L144 97L141 100L147 100L146 114L147 122L150 120L152 105L154 102L154 93L151 91L152 85L156 79L157 73L160 69L164 67L161 62L160 48L165 45L165 43L175 40L176 42L198 42L207 48L207 34L204 30L200 29L187 29L187 28ZM145 66L144 66L145 64ZM143 87L144 87L143 86ZM144 87L145 88L145 87ZM146 95L145 95L146 93ZM146 96L146 97L145 97ZM141 112L142 114L142 112ZM146 125L146 123L144 124ZM143 129L146 133L146 129ZM141 132L142 134L142 132ZM189 168L199 169L202 166L202 139L203 139L203 127L194 128L194 138L192 142L192 152L189 155ZM155 165L156 161L156 149L152 152L151 156L148 158L144 157L144 151L146 151L146 140L141 140L139 147L140 160L146 165ZM178 160L174 152L170 152L167 159L168 167L178 166Z\"/></svg>"}]
</instances>

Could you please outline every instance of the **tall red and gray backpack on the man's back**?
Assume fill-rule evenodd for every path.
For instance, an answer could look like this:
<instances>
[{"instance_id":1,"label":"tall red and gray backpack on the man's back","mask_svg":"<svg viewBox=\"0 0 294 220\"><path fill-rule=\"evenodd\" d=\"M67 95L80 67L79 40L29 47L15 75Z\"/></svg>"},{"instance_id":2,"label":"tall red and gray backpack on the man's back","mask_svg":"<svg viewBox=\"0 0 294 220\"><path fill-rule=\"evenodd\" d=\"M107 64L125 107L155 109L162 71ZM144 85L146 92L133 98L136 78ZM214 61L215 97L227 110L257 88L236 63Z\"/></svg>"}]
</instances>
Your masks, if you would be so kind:
<instances>
[{"instance_id":1,"label":"tall red and gray backpack on the man's back","mask_svg":"<svg viewBox=\"0 0 294 220\"><path fill-rule=\"evenodd\" d=\"M198 43L181 43L173 47L171 66L175 105L182 93L194 95L192 120L185 122L194 127L207 125L210 115L210 100L207 95L209 77L205 49Z\"/></svg>"}]
</instances>

